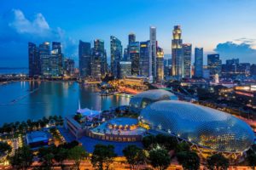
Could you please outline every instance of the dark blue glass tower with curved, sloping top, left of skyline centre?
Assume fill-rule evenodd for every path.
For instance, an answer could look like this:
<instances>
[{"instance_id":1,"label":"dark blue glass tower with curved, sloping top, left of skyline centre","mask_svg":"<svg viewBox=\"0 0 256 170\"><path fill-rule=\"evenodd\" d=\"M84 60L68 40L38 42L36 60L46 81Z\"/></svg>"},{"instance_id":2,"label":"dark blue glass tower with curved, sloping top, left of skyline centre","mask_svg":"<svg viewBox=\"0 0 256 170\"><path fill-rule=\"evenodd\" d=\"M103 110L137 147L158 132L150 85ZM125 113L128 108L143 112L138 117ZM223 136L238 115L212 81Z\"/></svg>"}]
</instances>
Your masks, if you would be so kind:
<instances>
[{"instance_id":1,"label":"dark blue glass tower with curved, sloping top, left of skyline centre","mask_svg":"<svg viewBox=\"0 0 256 170\"><path fill-rule=\"evenodd\" d=\"M122 58L123 47L120 40L110 36L111 72L113 77L119 78L119 62Z\"/></svg>"}]
</instances>

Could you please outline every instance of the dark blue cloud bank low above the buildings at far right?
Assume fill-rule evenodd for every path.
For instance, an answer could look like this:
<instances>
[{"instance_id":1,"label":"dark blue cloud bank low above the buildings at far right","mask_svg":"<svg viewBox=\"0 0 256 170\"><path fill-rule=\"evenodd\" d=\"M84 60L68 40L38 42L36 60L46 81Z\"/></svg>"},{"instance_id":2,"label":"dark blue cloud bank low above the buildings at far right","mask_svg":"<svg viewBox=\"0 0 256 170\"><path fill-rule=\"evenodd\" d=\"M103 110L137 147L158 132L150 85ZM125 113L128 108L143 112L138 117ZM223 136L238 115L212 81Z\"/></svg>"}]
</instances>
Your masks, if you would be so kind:
<instances>
[{"instance_id":1,"label":"dark blue cloud bank low above the buildings at far right","mask_svg":"<svg viewBox=\"0 0 256 170\"><path fill-rule=\"evenodd\" d=\"M240 38L233 42L218 43L215 52L225 59L239 58L241 62L256 63L256 49L253 48L255 40Z\"/></svg>"}]
</instances>

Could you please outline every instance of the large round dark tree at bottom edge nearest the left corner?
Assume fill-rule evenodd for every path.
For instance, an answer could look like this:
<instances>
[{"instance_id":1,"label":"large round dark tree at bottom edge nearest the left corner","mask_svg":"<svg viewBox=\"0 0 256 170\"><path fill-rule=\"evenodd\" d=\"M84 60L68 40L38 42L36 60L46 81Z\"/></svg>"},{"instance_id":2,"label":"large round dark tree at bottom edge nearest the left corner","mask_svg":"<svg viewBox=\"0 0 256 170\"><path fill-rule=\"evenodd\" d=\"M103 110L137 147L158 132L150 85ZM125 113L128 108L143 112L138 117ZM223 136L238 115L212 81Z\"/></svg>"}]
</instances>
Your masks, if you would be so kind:
<instances>
[{"instance_id":1,"label":"large round dark tree at bottom edge nearest the left corner","mask_svg":"<svg viewBox=\"0 0 256 170\"><path fill-rule=\"evenodd\" d=\"M15 169L28 169L32 165L33 154L28 146L23 146L15 151L15 155L10 157L10 164Z\"/></svg>"}]
</instances>

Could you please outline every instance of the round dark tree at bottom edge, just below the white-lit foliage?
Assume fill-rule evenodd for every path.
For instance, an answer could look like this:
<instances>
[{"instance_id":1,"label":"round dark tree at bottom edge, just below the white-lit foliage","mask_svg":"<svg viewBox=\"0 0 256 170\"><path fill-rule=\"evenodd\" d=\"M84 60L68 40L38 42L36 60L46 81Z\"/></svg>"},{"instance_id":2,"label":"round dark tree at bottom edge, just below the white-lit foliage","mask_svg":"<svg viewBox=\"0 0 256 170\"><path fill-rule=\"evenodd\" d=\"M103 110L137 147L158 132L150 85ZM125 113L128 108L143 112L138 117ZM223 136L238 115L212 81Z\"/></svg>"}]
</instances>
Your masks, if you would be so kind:
<instances>
[{"instance_id":1,"label":"round dark tree at bottom edge, just below the white-lit foliage","mask_svg":"<svg viewBox=\"0 0 256 170\"><path fill-rule=\"evenodd\" d=\"M157 146L153 150L149 151L149 161L155 169L164 170L169 166L171 156L169 156L167 150Z\"/></svg>"}]
</instances>

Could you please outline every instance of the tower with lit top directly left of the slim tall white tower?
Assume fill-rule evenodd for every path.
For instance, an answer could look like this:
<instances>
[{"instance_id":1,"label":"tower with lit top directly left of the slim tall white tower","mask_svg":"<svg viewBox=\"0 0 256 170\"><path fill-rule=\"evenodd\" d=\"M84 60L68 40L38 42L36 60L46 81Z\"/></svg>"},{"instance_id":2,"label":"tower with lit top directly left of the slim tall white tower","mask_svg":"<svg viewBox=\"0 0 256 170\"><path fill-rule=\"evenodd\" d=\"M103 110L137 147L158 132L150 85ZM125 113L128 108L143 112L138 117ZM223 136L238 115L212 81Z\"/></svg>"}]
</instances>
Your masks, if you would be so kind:
<instances>
[{"instance_id":1,"label":"tower with lit top directly left of the slim tall white tower","mask_svg":"<svg viewBox=\"0 0 256 170\"><path fill-rule=\"evenodd\" d=\"M140 66L139 75L143 77L150 77L152 63L150 62L150 41L140 42ZM151 65L150 65L151 64Z\"/></svg>"}]
</instances>

